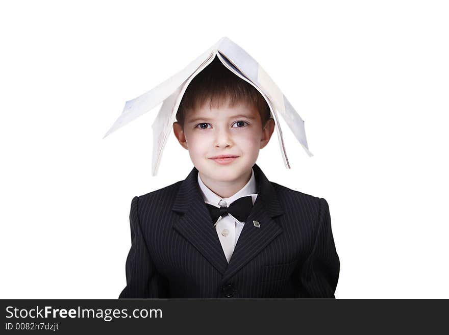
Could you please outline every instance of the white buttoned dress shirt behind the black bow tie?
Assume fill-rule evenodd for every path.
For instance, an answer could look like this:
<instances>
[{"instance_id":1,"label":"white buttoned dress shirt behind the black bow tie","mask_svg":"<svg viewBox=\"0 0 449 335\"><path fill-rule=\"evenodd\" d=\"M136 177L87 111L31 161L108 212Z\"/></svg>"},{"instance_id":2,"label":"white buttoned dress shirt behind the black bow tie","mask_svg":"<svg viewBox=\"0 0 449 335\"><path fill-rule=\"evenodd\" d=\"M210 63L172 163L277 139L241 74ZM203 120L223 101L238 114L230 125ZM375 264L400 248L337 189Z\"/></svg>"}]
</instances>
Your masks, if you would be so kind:
<instances>
[{"instance_id":1,"label":"white buttoned dress shirt behind the black bow tie","mask_svg":"<svg viewBox=\"0 0 449 335\"><path fill-rule=\"evenodd\" d=\"M204 202L210 203L217 208L229 207L229 205L237 200L238 198L251 195L253 199L253 205L257 198L257 187L256 187L256 178L254 177L254 171L251 169L251 177L250 180L243 186L240 191L230 196L229 198L221 198L212 190L210 190L201 180L198 173L198 184L201 189L201 193L203 194ZM218 239L220 240L221 247L223 248L224 255L226 259L231 259L232 253L234 252L235 245L237 244L237 240L242 232L244 222L240 222L231 214L228 214L224 218L221 216L218 218L217 222L215 222L215 227L217 229Z\"/></svg>"}]
</instances>

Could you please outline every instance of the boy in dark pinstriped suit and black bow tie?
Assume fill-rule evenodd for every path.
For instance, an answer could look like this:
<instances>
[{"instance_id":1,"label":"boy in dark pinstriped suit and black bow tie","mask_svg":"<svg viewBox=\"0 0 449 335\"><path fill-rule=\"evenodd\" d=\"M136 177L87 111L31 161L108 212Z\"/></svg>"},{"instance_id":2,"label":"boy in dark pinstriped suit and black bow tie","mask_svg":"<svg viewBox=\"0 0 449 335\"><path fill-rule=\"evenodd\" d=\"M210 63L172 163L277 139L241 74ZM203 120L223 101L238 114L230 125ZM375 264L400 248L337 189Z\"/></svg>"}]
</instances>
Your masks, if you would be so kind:
<instances>
[{"instance_id":1,"label":"boy in dark pinstriped suit and black bow tie","mask_svg":"<svg viewBox=\"0 0 449 335\"><path fill-rule=\"evenodd\" d=\"M333 298L339 259L325 199L267 180L263 96L214 59L189 84L173 132L194 165L134 197L119 298Z\"/></svg>"}]
</instances>

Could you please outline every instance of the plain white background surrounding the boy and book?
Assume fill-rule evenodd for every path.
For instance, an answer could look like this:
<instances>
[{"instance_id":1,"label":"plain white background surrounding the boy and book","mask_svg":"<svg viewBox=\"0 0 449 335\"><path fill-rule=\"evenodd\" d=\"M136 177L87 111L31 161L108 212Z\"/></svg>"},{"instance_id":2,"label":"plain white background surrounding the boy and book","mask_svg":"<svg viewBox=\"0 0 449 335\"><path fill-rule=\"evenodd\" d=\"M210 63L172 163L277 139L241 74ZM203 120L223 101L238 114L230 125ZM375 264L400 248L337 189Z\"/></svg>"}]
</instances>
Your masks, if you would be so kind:
<instances>
[{"instance_id":1,"label":"plain white background surrounding the boy and book","mask_svg":"<svg viewBox=\"0 0 449 335\"><path fill-rule=\"evenodd\" d=\"M124 102L228 36L305 120L257 164L325 198L336 297L449 298L449 11L436 1L2 2L0 298L117 298L135 195L193 167ZM143 154L142 154L143 153Z\"/></svg>"}]
</instances>

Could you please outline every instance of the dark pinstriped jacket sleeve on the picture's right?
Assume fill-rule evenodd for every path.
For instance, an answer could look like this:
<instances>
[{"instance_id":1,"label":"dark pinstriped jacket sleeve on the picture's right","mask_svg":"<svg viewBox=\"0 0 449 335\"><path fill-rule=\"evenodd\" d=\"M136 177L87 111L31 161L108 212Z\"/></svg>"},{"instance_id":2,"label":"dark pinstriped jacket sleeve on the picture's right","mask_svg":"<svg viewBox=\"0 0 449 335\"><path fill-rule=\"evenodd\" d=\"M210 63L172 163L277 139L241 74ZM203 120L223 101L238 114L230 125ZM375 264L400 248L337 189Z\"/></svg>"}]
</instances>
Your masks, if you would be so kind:
<instances>
[{"instance_id":1,"label":"dark pinstriped jacket sleeve on the picture's right","mask_svg":"<svg viewBox=\"0 0 449 335\"><path fill-rule=\"evenodd\" d=\"M335 249L328 202L319 199L318 230L312 251L303 264L296 297L335 298L340 261Z\"/></svg>"}]
</instances>

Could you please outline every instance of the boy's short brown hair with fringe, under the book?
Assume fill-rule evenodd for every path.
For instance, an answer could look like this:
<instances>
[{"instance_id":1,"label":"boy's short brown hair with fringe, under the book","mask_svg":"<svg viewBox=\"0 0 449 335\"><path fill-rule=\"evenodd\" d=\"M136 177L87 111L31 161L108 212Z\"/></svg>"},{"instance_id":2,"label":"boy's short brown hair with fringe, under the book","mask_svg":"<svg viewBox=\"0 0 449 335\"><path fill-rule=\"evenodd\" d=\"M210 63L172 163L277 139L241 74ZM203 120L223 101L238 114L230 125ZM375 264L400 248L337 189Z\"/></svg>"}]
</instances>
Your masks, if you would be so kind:
<instances>
[{"instance_id":1,"label":"boy's short brown hair with fringe, under the book","mask_svg":"<svg viewBox=\"0 0 449 335\"><path fill-rule=\"evenodd\" d=\"M227 101L230 107L239 102L254 106L259 111L262 127L270 118L270 108L259 91L228 70L215 57L190 82L181 99L176 119L184 128L185 116L189 110L201 108L207 103L210 108L219 108Z\"/></svg>"}]
</instances>

